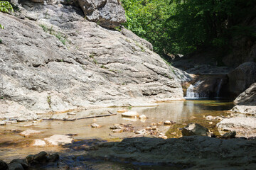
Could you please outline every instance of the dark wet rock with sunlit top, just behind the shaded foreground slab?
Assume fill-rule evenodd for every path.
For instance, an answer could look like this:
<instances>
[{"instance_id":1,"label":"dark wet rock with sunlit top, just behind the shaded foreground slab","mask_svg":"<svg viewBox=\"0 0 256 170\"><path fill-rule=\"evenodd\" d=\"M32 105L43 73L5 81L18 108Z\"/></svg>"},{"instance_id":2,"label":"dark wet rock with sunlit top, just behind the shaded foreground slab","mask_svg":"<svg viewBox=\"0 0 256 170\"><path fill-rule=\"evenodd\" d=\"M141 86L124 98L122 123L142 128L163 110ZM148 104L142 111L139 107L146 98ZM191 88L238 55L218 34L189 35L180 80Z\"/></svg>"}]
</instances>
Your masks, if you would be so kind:
<instances>
[{"instance_id":1,"label":"dark wet rock with sunlit top, just behind the shaded foreground slab","mask_svg":"<svg viewBox=\"0 0 256 170\"><path fill-rule=\"evenodd\" d=\"M198 123L189 123L185 128L181 130L183 136L208 136L210 137L210 132L208 128L199 125Z\"/></svg>"}]
</instances>

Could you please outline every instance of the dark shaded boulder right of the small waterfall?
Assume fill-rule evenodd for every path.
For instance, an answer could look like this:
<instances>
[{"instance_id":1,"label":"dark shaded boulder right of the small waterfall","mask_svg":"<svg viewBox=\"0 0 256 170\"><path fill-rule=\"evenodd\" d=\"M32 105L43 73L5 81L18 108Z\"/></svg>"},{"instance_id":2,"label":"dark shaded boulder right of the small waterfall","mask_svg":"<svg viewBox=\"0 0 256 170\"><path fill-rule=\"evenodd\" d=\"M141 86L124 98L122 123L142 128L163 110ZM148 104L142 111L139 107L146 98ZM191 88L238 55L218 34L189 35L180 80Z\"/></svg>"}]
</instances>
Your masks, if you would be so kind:
<instances>
[{"instance_id":1,"label":"dark shaded boulder right of the small waterfall","mask_svg":"<svg viewBox=\"0 0 256 170\"><path fill-rule=\"evenodd\" d=\"M256 82L256 63L245 62L228 74L230 92L238 96Z\"/></svg>"}]
</instances>

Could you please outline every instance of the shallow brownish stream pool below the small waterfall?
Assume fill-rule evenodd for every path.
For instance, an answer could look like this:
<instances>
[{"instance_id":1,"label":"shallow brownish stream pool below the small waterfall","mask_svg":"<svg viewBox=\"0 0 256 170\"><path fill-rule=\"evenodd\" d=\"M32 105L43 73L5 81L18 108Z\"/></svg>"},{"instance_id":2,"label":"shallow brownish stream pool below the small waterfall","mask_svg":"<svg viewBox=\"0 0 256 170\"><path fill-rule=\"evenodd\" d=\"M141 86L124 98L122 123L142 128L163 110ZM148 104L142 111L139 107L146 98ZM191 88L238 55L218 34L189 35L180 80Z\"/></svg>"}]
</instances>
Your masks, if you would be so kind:
<instances>
[{"instance_id":1,"label":"shallow brownish stream pool below the small waterfall","mask_svg":"<svg viewBox=\"0 0 256 170\"><path fill-rule=\"evenodd\" d=\"M164 120L174 120L176 125L172 126L171 128L164 125L161 125L158 128L161 132L166 132L168 137L181 137L181 130L178 128L183 128L187 123L193 122L206 126L211 131L215 132L216 135L218 135L218 131L215 129L215 124L217 122L213 121L212 124L209 124L210 121L206 120L204 116L227 115L228 113L225 111L230 110L232 107L233 103L226 101L171 101L159 103L159 106L157 107L131 108L131 111L137 111L139 115L146 115L148 119L146 119L144 122L139 119L122 118L121 113L117 113L117 110L120 108L103 108L100 110L92 110L92 112L100 113L102 111L111 111L112 113L117 113L117 115L102 118L87 118L75 121L43 120L41 123L36 123L31 126L24 126L31 123L17 123L13 125L1 126L0 159L9 162L11 159L24 158L28 154L37 154L42 150L46 152L71 154L70 152L67 152L66 148L63 147L41 148L31 146L31 142L33 142L35 139L43 140L45 137L50 137L51 135L56 134L75 134L73 137L76 140L97 138L107 141L119 141L124 137L134 136L133 132L113 133L112 130L110 130L110 127L115 123L131 123L135 130L142 130L146 126L151 125L151 123L158 123L159 121ZM101 125L101 127L96 129L91 128L90 125L92 123L97 123L98 125ZM26 138L18 135L19 132L27 129L40 130L41 134ZM90 162L87 162L86 164L89 163ZM104 162L92 164L92 167L106 166ZM126 165L118 165L115 163L112 165L112 163L109 163L107 166L123 167ZM128 169L131 167L134 167L134 165L129 166Z\"/></svg>"}]
</instances>

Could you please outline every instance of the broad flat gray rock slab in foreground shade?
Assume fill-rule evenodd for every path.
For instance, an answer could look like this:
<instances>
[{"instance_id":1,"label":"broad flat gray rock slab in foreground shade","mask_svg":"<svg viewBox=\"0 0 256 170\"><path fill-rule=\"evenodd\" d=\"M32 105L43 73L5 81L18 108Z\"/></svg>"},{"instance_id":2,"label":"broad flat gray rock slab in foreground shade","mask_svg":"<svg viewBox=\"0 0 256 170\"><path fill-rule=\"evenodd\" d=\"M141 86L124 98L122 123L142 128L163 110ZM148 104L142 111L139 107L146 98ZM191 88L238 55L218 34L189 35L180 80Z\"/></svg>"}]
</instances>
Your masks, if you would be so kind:
<instances>
[{"instance_id":1,"label":"broad flat gray rock slab in foreground shade","mask_svg":"<svg viewBox=\"0 0 256 170\"><path fill-rule=\"evenodd\" d=\"M146 145L145 145L146 144ZM255 169L256 140L136 137L92 147L87 155L111 161L151 162L177 169Z\"/></svg>"}]
</instances>

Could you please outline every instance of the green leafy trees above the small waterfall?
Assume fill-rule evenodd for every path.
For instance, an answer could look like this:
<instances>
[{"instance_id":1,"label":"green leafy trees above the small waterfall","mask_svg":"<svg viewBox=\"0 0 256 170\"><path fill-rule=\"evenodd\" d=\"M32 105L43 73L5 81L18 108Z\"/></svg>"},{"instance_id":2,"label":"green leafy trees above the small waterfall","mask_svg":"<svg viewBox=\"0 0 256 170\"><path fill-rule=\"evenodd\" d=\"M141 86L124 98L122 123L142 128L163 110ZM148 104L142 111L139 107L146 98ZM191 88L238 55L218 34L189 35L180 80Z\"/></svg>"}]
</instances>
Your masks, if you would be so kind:
<instances>
[{"instance_id":1,"label":"green leafy trees above the small waterfall","mask_svg":"<svg viewBox=\"0 0 256 170\"><path fill-rule=\"evenodd\" d=\"M256 38L256 0L122 0L124 26L154 45L162 57L206 47L226 52L231 38ZM247 19L246 23L246 18Z\"/></svg>"}]
</instances>

